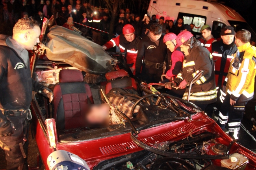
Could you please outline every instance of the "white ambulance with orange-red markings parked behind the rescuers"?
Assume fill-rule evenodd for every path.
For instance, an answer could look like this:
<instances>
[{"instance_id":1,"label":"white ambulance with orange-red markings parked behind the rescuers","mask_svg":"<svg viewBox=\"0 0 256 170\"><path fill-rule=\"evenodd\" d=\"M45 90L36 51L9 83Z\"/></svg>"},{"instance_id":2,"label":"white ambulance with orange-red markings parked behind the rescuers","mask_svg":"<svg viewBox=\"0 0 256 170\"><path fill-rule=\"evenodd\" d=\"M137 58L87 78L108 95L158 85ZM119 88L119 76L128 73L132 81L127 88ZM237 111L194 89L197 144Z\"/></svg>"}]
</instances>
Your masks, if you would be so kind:
<instances>
[{"instance_id":1,"label":"white ambulance with orange-red markings parked behind the rescuers","mask_svg":"<svg viewBox=\"0 0 256 170\"><path fill-rule=\"evenodd\" d=\"M234 9L223 4L212 1L201 0L150 0L148 7L148 16L156 15L159 19L161 16L165 20L183 18L184 24L194 24L193 31L199 36L201 28L208 24L215 38L220 37L221 28L232 26L235 31L247 29L251 33L251 44L255 46L256 34L247 24L245 19Z\"/></svg>"}]
</instances>

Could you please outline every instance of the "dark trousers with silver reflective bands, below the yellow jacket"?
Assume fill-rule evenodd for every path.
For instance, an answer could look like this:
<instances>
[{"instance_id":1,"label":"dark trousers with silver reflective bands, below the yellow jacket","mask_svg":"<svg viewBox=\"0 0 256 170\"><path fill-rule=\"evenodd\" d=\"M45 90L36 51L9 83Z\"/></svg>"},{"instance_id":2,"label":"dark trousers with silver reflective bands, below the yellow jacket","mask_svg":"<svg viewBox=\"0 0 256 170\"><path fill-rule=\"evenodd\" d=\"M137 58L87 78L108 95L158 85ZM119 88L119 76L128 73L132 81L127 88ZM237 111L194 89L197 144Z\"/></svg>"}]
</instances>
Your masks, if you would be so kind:
<instances>
[{"instance_id":1,"label":"dark trousers with silver reflective bands, below the yellow jacket","mask_svg":"<svg viewBox=\"0 0 256 170\"><path fill-rule=\"evenodd\" d=\"M239 97L236 104L230 105L230 97L226 95L223 104L219 110L219 119L217 124L222 130L225 129L225 124L228 123L228 131L235 132L240 130L241 120L243 120L243 113L245 112L246 100Z\"/></svg>"}]
</instances>

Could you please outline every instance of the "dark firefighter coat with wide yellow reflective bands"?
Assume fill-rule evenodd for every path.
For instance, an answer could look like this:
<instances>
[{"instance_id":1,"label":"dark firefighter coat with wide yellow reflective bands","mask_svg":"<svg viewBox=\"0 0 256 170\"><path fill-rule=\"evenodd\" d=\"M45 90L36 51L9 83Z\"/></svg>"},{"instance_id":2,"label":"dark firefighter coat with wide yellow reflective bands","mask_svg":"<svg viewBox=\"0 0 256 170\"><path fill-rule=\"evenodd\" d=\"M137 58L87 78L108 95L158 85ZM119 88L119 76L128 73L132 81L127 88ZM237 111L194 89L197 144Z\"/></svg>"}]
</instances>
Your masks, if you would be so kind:
<instances>
[{"instance_id":1,"label":"dark firefighter coat with wide yellow reflective bands","mask_svg":"<svg viewBox=\"0 0 256 170\"><path fill-rule=\"evenodd\" d=\"M188 51L189 55L184 57L182 70L176 79L174 79L176 84L180 84L182 80L186 80L187 82L186 91L182 99L187 100L188 85L200 70L204 70L204 75L192 85L189 101L194 104L210 104L216 102L217 93L211 53L202 47L198 40L193 48L190 48Z\"/></svg>"}]
</instances>

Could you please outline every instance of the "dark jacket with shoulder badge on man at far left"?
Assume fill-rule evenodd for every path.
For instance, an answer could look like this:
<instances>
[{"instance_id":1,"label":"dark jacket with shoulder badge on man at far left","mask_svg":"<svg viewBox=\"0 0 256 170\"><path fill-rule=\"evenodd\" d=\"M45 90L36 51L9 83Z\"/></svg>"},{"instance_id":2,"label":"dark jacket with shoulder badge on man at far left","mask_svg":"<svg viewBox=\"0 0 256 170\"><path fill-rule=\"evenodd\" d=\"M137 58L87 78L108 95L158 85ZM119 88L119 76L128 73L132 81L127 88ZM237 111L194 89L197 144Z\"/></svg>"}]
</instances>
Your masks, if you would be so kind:
<instances>
[{"instance_id":1,"label":"dark jacket with shoulder badge on man at far left","mask_svg":"<svg viewBox=\"0 0 256 170\"><path fill-rule=\"evenodd\" d=\"M31 78L29 58L25 63L20 57L27 51L8 46L7 38L11 37L0 35L0 108L26 110L30 107L32 90L38 92L44 86Z\"/></svg>"}]
</instances>

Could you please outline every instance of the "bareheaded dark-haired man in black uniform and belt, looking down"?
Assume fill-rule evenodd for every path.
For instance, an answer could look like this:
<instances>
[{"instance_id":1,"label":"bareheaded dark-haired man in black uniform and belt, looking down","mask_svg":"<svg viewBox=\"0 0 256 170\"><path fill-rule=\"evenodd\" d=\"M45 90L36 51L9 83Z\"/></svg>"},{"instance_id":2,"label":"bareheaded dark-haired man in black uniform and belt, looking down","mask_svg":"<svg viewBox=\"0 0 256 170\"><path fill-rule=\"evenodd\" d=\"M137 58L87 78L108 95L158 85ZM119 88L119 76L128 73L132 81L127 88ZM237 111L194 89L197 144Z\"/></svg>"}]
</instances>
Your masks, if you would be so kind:
<instances>
[{"instance_id":1,"label":"bareheaded dark-haired man in black uniform and belt, looking down","mask_svg":"<svg viewBox=\"0 0 256 170\"><path fill-rule=\"evenodd\" d=\"M154 23L150 26L149 33L139 42L138 55L136 59L136 75L149 82L161 81L163 66L171 51L163 43L162 26ZM144 57L144 62L141 62ZM142 68L141 68L142 67Z\"/></svg>"}]
</instances>

